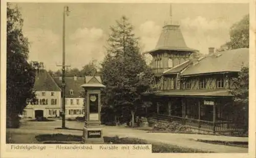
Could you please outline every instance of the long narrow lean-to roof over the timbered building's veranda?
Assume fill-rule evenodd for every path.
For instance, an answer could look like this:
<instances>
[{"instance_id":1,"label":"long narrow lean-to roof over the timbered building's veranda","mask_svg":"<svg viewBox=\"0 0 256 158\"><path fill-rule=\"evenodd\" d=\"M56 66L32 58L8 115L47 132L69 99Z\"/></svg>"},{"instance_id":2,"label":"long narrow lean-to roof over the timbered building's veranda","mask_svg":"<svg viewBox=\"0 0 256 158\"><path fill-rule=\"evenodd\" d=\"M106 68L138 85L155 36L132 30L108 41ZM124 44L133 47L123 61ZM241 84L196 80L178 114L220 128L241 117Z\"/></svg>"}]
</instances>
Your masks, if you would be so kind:
<instances>
[{"instance_id":1,"label":"long narrow lean-to roof over the timbered building's veranda","mask_svg":"<svg viewBox=\"0 0 256 158\"><path fill-rule=\"evenodd\" d=\"M192 97L226 97L232 96L227 89L222 90L171 90L155 93L156 96L192 96Z\"/></svg>"}]
</instances>

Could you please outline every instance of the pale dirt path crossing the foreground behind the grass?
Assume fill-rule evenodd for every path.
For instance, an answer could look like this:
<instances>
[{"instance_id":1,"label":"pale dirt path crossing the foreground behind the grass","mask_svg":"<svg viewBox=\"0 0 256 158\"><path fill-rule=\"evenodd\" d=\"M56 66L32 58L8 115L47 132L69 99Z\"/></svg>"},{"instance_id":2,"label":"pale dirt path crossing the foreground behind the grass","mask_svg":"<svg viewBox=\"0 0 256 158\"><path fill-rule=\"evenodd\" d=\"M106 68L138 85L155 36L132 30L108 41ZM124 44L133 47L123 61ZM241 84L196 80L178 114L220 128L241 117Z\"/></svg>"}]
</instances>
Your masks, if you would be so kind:
<instances>
[{"instance_id":1,"label":"pale dirt path crossing the foreground behind the grass","mask_svg":"<svg viewBox=\"0 0 256 158\"><path fill-rule=\"evenodd\" d=\"M20 134L51 134L51 133L62 133L62 134L73 134L82 136L81 129L83 128L83 122L67 122L67 127L75 128L77 130L62 130L55 129L61 126L61 121L53 122L28 122L24 121L22 127L19 129L7 129L10 133ZM194 148L205 151L219 152L219 153L246 153L248 148L225 146L217 144L209 144L197 142L195 139L206 139L206 140L220 140L220 141L241 141L248 142L248 138L238 137L224 137L224 136L209 136L202 134L181 134L181 133L147 133L143 130L137 130L126 127L116 126L102 126L103 136L119 136L119 137L133 137L144 139L150 142L161 142L172 145L177 145L186 148Z\"/></svg>"}]
</instances>

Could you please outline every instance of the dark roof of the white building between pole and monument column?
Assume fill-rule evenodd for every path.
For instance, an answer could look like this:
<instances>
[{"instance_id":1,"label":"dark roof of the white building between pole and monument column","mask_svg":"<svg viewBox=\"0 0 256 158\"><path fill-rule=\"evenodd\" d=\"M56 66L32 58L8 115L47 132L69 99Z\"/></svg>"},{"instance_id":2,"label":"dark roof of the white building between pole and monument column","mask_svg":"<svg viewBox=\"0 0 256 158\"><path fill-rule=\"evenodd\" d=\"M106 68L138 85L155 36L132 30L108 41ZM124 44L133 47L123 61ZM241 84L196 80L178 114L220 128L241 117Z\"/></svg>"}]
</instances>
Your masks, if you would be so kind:
<instances>
[{"instance_id":1,"label":"dark roof of the white building between pole and monument column","mask_svg":"<svg viewBox=\"0 0 256 158\"><path fill-rule=\"evenodd\" d=\"M55 82L61 87L62 80L59 77L54 77ZM83 97L84 88L80 87L80 85L84 84L84 77L65 77L65 95L67 98L80 98ZM73 90L73 95L70 94L70 91Z\"/></svg>"}]
</instances>

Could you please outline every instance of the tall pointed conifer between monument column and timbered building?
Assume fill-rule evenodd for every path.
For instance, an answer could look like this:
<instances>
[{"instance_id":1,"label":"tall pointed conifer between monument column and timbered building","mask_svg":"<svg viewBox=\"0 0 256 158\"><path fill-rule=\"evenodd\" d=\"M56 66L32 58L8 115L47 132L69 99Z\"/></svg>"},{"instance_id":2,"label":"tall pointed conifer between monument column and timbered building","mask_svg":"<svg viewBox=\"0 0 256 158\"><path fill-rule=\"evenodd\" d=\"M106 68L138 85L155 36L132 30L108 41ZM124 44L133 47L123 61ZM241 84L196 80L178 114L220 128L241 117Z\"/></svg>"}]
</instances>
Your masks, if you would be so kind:
<instances>
[{"instance_id":1,"label":"tall pointed conifer between monument column and timbered building","mask_svg":"<svg viewBox=\"0 0 256 158\"><path fill-rule=\"evenodd\" d=\"M102 62L104 101L122 122L134 126L134 116L143 107L142 94L150 88L151 69L140 53L133 26L125 16L111 27L107 55ZM140 114L136 114L140 116Z\"/></svg>"}]
</instances>

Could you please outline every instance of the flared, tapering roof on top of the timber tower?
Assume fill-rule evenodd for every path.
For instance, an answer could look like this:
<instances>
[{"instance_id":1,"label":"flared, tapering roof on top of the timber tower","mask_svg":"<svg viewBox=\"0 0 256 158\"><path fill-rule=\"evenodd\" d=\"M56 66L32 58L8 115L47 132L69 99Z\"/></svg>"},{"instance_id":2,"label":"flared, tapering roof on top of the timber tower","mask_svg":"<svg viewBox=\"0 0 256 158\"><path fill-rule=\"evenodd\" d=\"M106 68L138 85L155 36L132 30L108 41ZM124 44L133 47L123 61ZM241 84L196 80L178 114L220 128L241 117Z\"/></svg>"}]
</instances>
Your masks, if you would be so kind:
<instances>
[{"instance_id":1,"label":"flared, tapering roof on top of the timber tower","mask_svg":"<svg viewBox=\"0 0 256 158\"><path fill-rule=\"evenodd\" d=\"M165 25L163 27L156 48L149 53L158 50L197 51L186 46L179 25Z\"/></svg>"}]
</instances>

